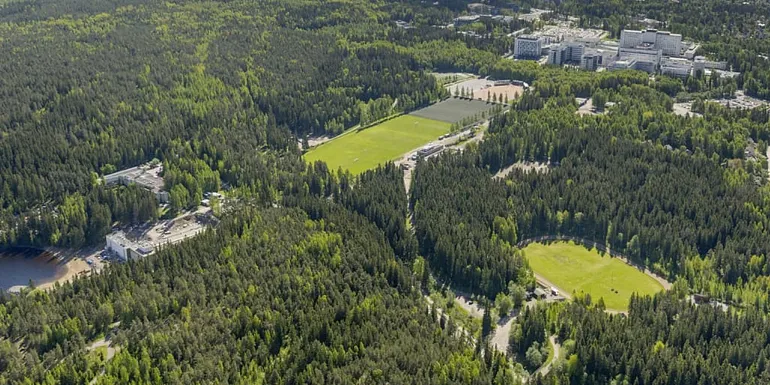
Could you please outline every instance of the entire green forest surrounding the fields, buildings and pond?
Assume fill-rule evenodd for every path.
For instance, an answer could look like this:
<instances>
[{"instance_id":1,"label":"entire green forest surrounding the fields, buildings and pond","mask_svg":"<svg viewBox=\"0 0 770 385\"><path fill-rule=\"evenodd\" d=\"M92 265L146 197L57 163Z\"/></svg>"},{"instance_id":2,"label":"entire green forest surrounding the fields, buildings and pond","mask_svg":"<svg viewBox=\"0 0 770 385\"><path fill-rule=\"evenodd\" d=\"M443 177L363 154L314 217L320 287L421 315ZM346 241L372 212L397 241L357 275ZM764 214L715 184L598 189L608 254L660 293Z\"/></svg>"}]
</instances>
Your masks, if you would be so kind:
<instances>
[{"instance_id":1,"label":"entire green forest surrounding the fields, buildings and pond","mask_svg":"<svg viewBox=\"0 0 770 385\"><path fill-rule=\"evenodd\" d=\"M613 36L654 18L742 72L680 80L502 59L535 24L445 28L468 2L0 0L0 246L77 248L156 219L152 194L100 181L153 159L172 211L233 201L150 258L0 294L0 384L516 384L511 360L536 370L549 337L562 355L529 383L770 382L770 113L706 102L770 98L767 3L490 2ZM419 161L411 191L393 164L303 162L311 136L447 97L433 71L532 87L480 144ZM519 162L547 167L493 177ZM517 244L554 234L674 290L627 314L590 296L517 309L504 356L484 340L491 300L521 306ZM428 306L433 283L479 296L482 338ZM109 361L88 349L105 336Z\"/></svg>"}]
</instances>

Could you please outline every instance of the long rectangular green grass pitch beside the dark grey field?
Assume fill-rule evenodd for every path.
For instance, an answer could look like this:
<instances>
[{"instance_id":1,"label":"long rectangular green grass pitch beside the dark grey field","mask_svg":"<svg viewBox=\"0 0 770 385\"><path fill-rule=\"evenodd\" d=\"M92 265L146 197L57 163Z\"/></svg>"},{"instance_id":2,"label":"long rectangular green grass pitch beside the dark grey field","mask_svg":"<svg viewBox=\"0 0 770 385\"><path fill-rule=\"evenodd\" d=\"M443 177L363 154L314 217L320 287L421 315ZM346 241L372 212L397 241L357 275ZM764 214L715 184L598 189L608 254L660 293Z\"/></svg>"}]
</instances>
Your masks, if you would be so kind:
<instances>
[{"instance_id":1,"label":"long rectangular green grass pitch beside the dark grey field","mask_svg":"<svg viewBox=\"0 0 770 385\"><path fill-rule=\"evenodd\" d=\"M394 160L449 132L445 122L402 115L359 132L351 132L313 148L305 161L325 161L329 168L350 170L353 174Z\"/></svg>"}]
</instances>

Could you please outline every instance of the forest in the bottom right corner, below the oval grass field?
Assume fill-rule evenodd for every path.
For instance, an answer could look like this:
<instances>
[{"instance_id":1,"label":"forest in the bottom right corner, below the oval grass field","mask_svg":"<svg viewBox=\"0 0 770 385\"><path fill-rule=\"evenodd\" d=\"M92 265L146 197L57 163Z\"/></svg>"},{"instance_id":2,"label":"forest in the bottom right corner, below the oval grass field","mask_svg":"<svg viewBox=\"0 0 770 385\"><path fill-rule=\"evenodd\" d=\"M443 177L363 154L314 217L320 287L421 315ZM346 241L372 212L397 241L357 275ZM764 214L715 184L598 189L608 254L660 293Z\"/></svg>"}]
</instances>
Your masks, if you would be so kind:
<instances>
[{"instance_id":1,"label":"forest in the bottom right corner, below the oval grass field","mask_svg":"<svg viewBox=\"0 0 770 385\"><path fill-rule=\"evenodd\" d=\"M767 318L692 306L673 294L632 298L627 317L590 298L524 317L512 347L562 341L563 360L534 384L765 384L770 381ZM531 341L531 342L530 342Z\"/></svg>"}]
</instances>

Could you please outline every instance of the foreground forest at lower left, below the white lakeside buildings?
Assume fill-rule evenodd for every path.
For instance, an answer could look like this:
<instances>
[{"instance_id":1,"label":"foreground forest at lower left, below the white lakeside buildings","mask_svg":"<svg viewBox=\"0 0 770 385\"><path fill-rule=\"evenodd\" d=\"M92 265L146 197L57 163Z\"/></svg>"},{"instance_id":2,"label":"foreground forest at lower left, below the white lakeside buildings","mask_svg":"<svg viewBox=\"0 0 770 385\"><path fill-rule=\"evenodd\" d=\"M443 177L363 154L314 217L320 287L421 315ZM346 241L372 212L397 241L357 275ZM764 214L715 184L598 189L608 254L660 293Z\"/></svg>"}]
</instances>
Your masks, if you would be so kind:
<instances>
[{"instance_id":1,"label":"foreground forest at lower left, below the white lakeside buildings","mask_svg":"<svg viewBox=\"0 0 770 385\"><path fill-rule=\"evenodd\" d=\"M509 383L431 320L375 226L307 204L322 217L244 211L141 262L3 298L0 378L88 383L100 363L83 346L108 332L122 349L99 384Z\"/></svg>"}]
</instances>

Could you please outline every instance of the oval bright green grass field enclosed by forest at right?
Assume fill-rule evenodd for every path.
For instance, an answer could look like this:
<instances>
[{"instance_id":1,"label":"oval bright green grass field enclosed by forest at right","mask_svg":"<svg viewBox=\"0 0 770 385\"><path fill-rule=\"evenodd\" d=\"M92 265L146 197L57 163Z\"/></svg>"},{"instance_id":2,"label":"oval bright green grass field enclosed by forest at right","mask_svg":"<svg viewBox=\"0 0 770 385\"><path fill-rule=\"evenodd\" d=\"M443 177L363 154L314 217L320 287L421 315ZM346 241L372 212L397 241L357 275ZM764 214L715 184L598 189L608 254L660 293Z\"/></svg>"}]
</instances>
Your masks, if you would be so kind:
<instances>
[{"instance_id":1,"label":"oval bright green grass field enclosed by forest at right","mask_svg":"<svg viewBox=\"0 0 770 385\"><path fill-rule=\"evenodd\" d=\"M609 310L627 310L634 292L647 295L663 290L658 281L620 259L601 256L596 249L574 242L531 243L523 251L532 270L558 289L591 294L593 301L603 297Z\"/></svg>"}]
</instances>

